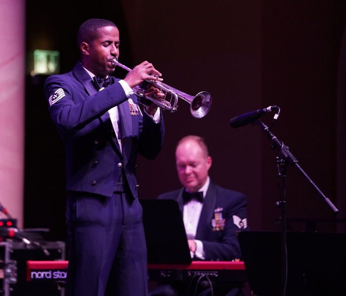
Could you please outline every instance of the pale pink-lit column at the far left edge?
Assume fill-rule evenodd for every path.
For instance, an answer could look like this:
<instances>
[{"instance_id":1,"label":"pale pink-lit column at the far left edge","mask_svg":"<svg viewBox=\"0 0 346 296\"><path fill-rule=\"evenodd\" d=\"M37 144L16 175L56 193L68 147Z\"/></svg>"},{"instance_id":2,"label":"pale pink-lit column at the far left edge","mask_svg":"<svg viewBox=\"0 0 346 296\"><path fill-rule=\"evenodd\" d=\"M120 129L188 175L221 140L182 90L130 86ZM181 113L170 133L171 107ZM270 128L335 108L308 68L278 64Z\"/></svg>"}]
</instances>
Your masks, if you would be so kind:
<instances>
[{"instance_id":1,"label":"pale pink-lit column at the far left edge","mask_svg":"<svg viewBox=\"0 0 346 296\"><path fill-rule=\"evenodd\" d=\"M23 223L25 0L0 1L0 202Z\"/></svg>"}]
</instances>

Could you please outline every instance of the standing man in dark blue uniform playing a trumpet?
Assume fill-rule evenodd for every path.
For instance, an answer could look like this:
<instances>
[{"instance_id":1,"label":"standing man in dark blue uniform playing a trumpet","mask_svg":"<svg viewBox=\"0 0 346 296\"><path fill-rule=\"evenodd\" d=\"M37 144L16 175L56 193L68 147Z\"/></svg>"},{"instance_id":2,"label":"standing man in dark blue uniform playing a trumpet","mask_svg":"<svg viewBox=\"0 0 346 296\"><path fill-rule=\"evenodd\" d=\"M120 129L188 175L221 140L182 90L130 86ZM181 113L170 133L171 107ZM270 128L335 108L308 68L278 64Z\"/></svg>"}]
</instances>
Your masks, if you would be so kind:
<instances>
[{"instance_id":1,"label":"standing man in dark blue uniform playing a trumpet","mask_svg":"<svg viewBox=\"0 0 346 296\"><path fill-rule=\"evenodd\" d=\"M66 295L144 296L147 263L136 156L158 155L164 123L154 104L141 113L132 88L148 79L162 81L161 73L145 61L123 80L110 77L120 45L111 21L87 20L77 39L80 62L44 85L66 152ZM153 86L145 95L163 97Z\"/></svg>"}]
</instances>

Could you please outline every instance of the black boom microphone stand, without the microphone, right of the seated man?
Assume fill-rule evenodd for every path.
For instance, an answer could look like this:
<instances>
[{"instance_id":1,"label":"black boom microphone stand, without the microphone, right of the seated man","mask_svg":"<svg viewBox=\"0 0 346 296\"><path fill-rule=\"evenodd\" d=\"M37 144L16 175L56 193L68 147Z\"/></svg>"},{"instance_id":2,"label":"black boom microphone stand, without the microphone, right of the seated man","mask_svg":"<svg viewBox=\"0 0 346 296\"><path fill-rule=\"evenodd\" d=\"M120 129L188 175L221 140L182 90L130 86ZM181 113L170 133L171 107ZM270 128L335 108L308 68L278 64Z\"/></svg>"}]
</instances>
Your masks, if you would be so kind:
<instances>
[{"instance_id":1,"label":"black boom microphone stand, without the microphone, right of the seated man","mask_svg":"<svg viewBox=\"0 0 346 296\"><path fill-rule=\"evenodd\" d=\"M256 120L253 124L258 125L263 131L266 133L268 139L271 141L271 148L278 148L280 150L280 155L275 157L278 176L282 181L281 190L279 188L279 196L281 197L281 201L276 203L276 206L281 209L281 252L282 256L282 296L286 296L286 287L287 287L287 243L286 243L286 190L285 190L285 178L287 177L287 166L289 164L295 166L303 176L310 182L310 184L317 190L320 196L324 199L324 201L328 204L328 206L335 213L339 212L339 210L333 205L333 203L323 194L323 192L317 187L317 185L311 180L311 178L304 172L304 170L298 164L298 160L294 157L294 155L290 152L288 146L286 146L269 130L269 128L260 120ZM281 192L280 192L281 191Z\"/></svg>"}]
</instances>

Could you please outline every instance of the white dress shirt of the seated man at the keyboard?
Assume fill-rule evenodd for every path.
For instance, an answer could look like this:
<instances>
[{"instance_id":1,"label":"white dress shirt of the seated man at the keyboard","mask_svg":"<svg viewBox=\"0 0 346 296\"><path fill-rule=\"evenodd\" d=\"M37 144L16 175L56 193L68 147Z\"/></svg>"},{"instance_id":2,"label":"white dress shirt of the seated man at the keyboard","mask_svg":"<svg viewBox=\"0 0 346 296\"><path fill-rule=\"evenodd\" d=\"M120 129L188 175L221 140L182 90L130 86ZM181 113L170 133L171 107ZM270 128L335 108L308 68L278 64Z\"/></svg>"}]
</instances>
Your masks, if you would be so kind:
<instances>
[{"instance_id":1,"label":"white dress shirt of the seated man at the keyboard","mask_svg":"<svg viewBox=\"0 0 346 296\"><path fill-rule=\"evenodd\" d=\"M203 192L203 198L206 197L209 183L210 183L210 178L208 176L206 183L201 187L200 190L198 190ZM186 191L188 190L186 189ZM202 207L203 207L203 204L201 204L195 199L192 199L191 201L189 201L187 204L184 205L183 220L184 220L186 236L187 236L187 239L189 240L195 240L198 221L201 216ZM197 258L205 259L203 243L200 240L195 240L195 242L196 242L196 252L195 253L190 252L191 258L193 256L196 256Z\"/></svg>"}]
</instances>

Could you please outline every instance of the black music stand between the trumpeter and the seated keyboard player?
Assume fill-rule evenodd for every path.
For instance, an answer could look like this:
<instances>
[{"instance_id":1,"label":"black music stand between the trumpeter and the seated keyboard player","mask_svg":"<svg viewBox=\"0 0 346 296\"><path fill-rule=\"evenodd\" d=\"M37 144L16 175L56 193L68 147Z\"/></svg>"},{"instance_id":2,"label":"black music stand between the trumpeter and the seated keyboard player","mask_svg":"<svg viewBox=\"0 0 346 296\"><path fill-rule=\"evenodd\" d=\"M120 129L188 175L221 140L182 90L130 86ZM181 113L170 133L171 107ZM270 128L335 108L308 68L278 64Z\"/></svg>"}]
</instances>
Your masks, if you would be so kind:
<instances>
[{"instance_id":1,"label":"black music stand between the trumpeter and the seated keyboard player","mask_svg":"<svg viewBox=\"0 0 346 296\"><path fill-rule=\"evenodd\" d=\"M175 200L140 200L148 263L191 263L181 211Z\"/></svg>"}]
</instances>

